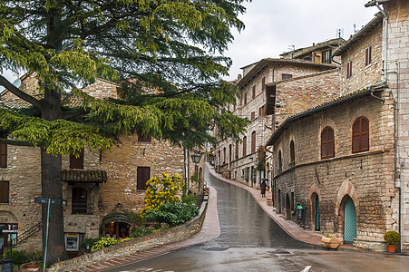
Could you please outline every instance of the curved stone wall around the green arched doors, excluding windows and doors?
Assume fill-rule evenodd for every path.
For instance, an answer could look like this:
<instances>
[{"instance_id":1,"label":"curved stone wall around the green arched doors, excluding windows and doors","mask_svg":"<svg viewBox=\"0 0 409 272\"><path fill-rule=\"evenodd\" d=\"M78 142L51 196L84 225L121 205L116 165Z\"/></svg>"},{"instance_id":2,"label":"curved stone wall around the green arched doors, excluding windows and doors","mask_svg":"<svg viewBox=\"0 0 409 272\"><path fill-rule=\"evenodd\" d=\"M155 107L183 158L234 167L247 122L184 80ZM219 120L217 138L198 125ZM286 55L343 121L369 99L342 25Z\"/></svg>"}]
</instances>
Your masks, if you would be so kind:
<instances>
[{"instance_id":1,"label":"curved stone wall around the green arched doors, excluding windows and doors","mask_svg":"<svg viewBox=\"0 0 409 272\"><path fill-rule=\"evenodd\" d=\"M294 121L274 143L282 153L283 171L275 158L275 205L297 223L295 210L287 209L287 195L294 193L293 206L306 211L307 228L315 229L314 196L319 198L320 231L343 240L343 205L346 196L355 203L357 239L383 248L385 229L396 226L394 198L394 115L392 94L382 92L385 102L371 96L355 99ZM369 151L352 153L352 124L369 119ZM331 126L335 133L335 157L321 159L321 131ZM289 163L289 142L295 141L296 166ZM280 199L278 199L278 189ZM291 203L290 203L291 204ZM377 246L376 246L377 245ZM381 245L381 246L379 246ZM369 246L368 246L369 247Z\"/></svg>"}]
</instances>

